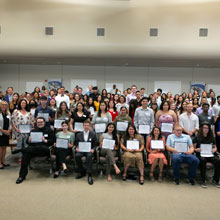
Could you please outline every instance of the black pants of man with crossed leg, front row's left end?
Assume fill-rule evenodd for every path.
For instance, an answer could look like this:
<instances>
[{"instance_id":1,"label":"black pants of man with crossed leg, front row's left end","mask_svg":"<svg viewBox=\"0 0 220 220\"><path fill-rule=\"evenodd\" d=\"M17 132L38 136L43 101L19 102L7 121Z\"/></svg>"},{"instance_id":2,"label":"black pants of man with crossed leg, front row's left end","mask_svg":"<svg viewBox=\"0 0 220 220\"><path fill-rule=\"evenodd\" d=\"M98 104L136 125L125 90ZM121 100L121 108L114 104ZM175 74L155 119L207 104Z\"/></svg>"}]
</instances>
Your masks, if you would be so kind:
<instances>
[{"instance_id":1,"label":"black pants of man with crossed leg, front row's left end","mask_svg":"<svg viewBox=\"0 0 220 220\"><path fill-rule=\"evenodd\" d=\"M28 174L28 164L33 157L50 156L50 150L46 146L29 146L22 150L23 157L19 176L25 178Z\"/></svg>"}]
</instances>

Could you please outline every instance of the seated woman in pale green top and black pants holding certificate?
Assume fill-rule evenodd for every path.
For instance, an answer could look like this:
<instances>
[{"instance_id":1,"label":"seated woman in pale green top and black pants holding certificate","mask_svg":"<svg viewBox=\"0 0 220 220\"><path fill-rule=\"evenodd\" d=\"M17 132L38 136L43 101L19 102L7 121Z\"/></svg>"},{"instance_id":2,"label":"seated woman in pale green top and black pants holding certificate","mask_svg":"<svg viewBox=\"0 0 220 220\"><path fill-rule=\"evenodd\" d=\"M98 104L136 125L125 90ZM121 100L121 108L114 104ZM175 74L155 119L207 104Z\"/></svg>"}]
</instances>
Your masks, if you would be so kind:
<instances>
[{"instance_id":1,"label":"seated woman in pale green top and black pants holding certificate","mask_svg":"<svg viewBox=\"0 0 220 220\"><path fill-rule=\"evenodd\" d=\"M66 173L66 157L72 155L72 148L75 141L75 134L68 131L68 121L63 121L61 123L63 131L56 134L56 171L54 173L54 178L57 178L60 173L60 167L62 166L63 172Z\"/></svg>"}]
</instances>

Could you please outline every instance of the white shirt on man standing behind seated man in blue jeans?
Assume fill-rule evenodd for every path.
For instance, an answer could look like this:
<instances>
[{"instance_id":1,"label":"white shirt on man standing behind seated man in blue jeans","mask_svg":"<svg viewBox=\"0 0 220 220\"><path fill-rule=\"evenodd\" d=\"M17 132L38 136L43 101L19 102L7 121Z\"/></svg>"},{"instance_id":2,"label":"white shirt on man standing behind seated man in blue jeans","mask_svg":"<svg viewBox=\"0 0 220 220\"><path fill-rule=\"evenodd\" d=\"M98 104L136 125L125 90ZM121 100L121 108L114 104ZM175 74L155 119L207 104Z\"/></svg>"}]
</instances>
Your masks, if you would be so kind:
<instances>
[{"instance_id":1,"label":"white shirt on man standing behind seated man in blue jeans","mask_svg":"<svg viewBox=\"0 0 220 220\"><path fill-rule=\"evenodd\" d=\"M181 114L179 117L179 123L188 131L193 131L195 128L199 130L199 118L193 113L191 113L190 116L187 115L187 112Z\"/></svg>"}]
</instances>

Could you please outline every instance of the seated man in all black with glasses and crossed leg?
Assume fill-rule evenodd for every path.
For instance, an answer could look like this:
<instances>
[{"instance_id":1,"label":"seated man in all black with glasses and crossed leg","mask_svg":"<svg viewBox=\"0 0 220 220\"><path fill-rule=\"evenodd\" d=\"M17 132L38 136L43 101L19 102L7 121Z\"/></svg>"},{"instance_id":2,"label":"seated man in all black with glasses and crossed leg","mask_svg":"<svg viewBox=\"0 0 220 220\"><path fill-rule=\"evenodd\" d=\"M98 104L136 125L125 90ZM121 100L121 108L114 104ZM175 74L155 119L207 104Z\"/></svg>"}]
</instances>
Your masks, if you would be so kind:
<instances>
[{"instance_id":1,"label":"seated man in all black with glasses and crossed leg","mask_svg":"<svg viewBox=\"0 0 220 220\"><path fill-rule=\"evenodd\" d=\"M12 151L12 154L19 152L23 153L21 169L16 181L17 184L22 183L25 180L28 174L28 164L30 163L31 158L49 156L49 147L55 142L53 131L45 126L45 119L39 117L37 118L36 123L36 128L31 131L30 136L28 137L28 147Z\"/></svg>"}]
</instances>

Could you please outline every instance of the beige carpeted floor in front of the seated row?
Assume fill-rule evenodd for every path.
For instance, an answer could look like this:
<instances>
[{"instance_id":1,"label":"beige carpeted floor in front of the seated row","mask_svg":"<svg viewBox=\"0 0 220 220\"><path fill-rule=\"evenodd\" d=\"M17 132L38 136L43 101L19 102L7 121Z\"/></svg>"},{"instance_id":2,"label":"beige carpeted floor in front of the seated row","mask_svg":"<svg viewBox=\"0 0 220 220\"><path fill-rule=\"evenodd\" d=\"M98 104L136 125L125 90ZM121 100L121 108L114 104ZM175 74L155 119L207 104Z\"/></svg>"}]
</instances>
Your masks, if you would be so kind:
<instances>
[{"instance_id":1,"label":"beige carpeted floor in front of the seated row","mask_svg":"<svg viewBox=\"0 0 220 220\"><path fill-rule=\"evenodd\" d=\"M170 180L145 184L123 182L113 176L96 175L94 185L87 179L76 180L74 173L53 179L48 166L36 165L20 185L15 181L19 167L16 157L8 155L10 167L0 170L0 220L139 220L220 218L220 189L209 184L176 186Z\"/></svg>"}]
</instances>

